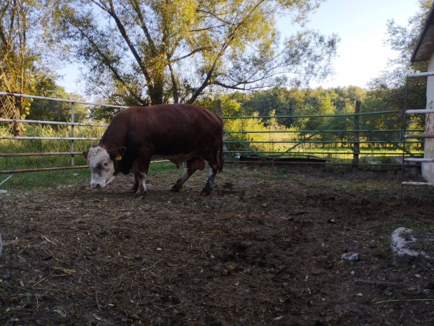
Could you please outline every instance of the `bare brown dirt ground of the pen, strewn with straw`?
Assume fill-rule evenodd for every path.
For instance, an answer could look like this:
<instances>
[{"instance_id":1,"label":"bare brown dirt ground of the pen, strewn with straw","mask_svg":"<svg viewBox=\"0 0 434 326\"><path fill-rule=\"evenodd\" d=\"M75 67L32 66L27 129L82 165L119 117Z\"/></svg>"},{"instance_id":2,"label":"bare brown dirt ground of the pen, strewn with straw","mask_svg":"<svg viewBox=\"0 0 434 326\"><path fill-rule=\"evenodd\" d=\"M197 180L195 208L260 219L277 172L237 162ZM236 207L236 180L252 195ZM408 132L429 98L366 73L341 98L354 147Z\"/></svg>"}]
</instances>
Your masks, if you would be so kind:
<instances>
[{"instance_id":1,"label":"bare brown dirt ground of the pen, strewn with straw","mask_svg":"<svg viewBox=\"0 0 434 326\"><path fill-rule=\"evenodd\" d=\"M433 260L395 267L395 227L433 230L433 190L391 173L226 166L0 197L1 325L434 325ZM356 252L347 262L343 253Z\"/></svg>"}]
</instances>

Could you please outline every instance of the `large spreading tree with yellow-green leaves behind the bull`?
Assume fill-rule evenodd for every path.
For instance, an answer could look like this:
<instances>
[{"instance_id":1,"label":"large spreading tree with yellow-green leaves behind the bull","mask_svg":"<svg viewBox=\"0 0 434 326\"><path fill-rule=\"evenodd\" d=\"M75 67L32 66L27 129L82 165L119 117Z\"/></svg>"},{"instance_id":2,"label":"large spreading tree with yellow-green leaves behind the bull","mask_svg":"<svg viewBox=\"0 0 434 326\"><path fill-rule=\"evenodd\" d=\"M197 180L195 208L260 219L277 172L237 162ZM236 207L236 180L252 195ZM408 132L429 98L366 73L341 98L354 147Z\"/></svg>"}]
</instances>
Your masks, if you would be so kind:
<instances>
[{"instance_id":1,"label":"large spreading tree with yellow-green leaves behind the bull","mask_svg":"<svg viewBox=\"0 0 434 326\"><path fill-rule=\"evenodd\" d=\"M303 27L322 0L47 1L52 43L86 66L93 94L116 104L300 85L330 73L338 41L302 29L282 42L276 30L279 13Z\"/></svg>"}]
</instances>

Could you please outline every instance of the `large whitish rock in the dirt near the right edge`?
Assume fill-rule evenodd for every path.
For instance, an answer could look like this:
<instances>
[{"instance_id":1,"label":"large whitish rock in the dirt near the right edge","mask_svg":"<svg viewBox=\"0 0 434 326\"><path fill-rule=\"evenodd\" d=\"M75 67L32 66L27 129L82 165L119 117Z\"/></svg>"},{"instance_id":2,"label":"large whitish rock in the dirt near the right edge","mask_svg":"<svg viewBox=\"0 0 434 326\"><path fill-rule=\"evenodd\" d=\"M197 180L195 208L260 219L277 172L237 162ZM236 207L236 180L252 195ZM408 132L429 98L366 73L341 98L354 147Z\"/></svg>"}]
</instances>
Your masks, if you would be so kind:
<instances>
[{"instance_id":1,"label":"large whitish rock in the dirt near the right edge","mask_svg":"<svg viewBox=\"0 0 434 326\"><path fill-rule=\"evenodd\" d=\"M418 236L418 239L416 239ZM432 237L432 235L431 235ZM431 250L434 250L434 241L430 239L430 235L421 234L420 232L416 234L412 229L407 227L398 227L392 232L391 236L391 249L393 251L393 264L398 265L408 265L415 261L419 261L422 258L433 257L432 253L421 249L421 244L423 246L429 244Z\"/></svg>"}]
</instances>

